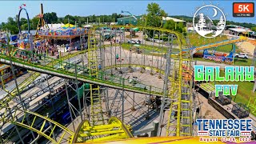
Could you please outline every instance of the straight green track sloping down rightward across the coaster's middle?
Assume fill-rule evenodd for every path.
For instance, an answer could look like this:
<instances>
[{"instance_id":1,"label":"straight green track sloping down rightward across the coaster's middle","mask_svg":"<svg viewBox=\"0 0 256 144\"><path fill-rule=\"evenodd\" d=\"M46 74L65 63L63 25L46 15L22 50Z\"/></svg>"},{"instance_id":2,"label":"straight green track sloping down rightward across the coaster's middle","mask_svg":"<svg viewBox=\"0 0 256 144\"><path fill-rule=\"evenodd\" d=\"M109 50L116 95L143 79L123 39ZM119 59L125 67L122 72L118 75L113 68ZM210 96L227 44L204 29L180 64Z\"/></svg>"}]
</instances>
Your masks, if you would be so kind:
<instances>
[{"instance_id":1,"label":"straight green track sloping down rightward across the coaster's middle","mask_svg":"<svg viewBox=\"0 0 256 144\"><path fill-rule=\"evenodd\" d=\"M0 54L0 62L6 63L8 64L9 58L8 56L4 55L4 54ZM60 60L58 59L54 59L54 58L49 58L54 60L54 64L56 62L56 64L58 64L60 62ZM22 58L14 58L12 57L12 61L14 62L14 66L15 65L19 65L22 66L24 68L30 69L30 70L38 70L38 72L40 73L56 73L59 77L63 77L63 75L67 76L67 77L72 77L75 78L75 74L74 74L74 69L70 69L70 70L60 70L60 69L56 69L54 66L54 64L52 65L44 65L44 63L35 63L35 62L28 62L26 60L23 60ZM69 62L62 62L62 64L66 64L66 65L70 65L70 67L74 67L74 64L69 63ZM82 66L78 66L78 80L82 81L82 82L90 82L90 83L94 83L94 84L98 84L98 85L102 85L102 86L111 86L111 87L115 87L117 89L122 89L122 85L120 85L120 79L123 79L122 77L119 76L115 76L115 75L111 75L111 74L107 74L104 73L102 71L98 71L99 77L95 78L95 77L90 77L89 74L82 74ZM104 75L104 77L101 77L102 75ZM141 83L142 84L142 83ZM128 82L128 79L125 79L125 86L123 86L126 90L134 90L137 91L138 93L142 93L142 94L157 94L157 95L162 95L162 89L158 88L158 87L154 87L154 86L149 86L149 85L144 85L146 88L142 89L141 87L136 87L133 86L132 84L130 84ZM151 91L150 91L150 87L151 87ZM4 102L5 103L5 102Z\"/></svg>"}]
</instances>

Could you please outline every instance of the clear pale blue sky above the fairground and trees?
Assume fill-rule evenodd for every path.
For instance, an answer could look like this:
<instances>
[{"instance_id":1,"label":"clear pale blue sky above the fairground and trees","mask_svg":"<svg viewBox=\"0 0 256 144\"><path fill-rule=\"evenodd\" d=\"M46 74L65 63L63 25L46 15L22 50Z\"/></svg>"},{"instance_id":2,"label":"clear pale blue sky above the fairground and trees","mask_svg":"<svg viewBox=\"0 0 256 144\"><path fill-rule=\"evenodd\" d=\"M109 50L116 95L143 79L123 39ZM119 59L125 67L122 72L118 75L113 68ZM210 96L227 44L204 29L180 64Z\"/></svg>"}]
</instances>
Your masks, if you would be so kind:
<instances>
[{"instance_id":1,"label":"clear pale blue sky above the fairground and trees","mask_svg":"<svg viewBox=\"0 0 256 144\"><path fill-rule=\"evenodd\" d=\"M210 1L0 1L0 22L6 22L8 17L18 14L19 6L26 3L26 9L33 18L40 13L40 3L43 3L44 12L56 12L58 17L66 14L70 15L99 15L121 13L121 10L130 11L134 15L145 14L146 6L150 2L157 2L169 15L192 16L196 7L210 4ZM256 18L234 18L232 16L232 6L234 1L212 1L226 15L226 20L234 22L251 22L256 24ZM240 1L242 2L242 1ZM246 1L250 2L250 1ZM22 16L25 16L22 13Z\"/></svg>"}]
</instances>

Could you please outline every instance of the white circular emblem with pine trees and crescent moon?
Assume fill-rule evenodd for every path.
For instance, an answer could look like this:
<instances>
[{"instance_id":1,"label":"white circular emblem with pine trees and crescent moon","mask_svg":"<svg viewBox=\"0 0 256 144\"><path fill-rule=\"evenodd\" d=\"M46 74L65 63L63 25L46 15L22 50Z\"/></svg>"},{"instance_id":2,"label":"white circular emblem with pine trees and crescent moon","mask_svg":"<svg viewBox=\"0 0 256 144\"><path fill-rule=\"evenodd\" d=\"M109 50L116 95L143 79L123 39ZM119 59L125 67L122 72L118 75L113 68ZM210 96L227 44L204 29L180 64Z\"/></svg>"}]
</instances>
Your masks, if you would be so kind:
<instances>
[{"instance_id":1,"label":"white circular emblem with pine trees and crescent moon","mask_svg":"<svg viewBox=\"0 0 256 144\"><path fill-rule=\"evenodd\" d=\"M225 29L226 17L217 6L202 6L194 13L193 26L202 37L214 38Z\"/></svg>"}]
</instances>

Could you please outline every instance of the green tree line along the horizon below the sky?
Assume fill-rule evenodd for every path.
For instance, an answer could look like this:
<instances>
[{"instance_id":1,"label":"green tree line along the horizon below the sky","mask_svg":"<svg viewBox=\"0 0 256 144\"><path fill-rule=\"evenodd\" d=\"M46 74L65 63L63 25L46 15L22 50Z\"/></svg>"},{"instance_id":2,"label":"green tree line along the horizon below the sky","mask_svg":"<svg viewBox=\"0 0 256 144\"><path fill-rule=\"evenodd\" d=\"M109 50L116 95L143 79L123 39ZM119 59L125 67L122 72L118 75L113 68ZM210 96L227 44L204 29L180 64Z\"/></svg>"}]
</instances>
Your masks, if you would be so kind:
<instances>
[{"instance_id":1,"label":"green tree line along the horizon below the sky","mask_svg":"<svg viewBox=\"0 0 256 144\"><path fill-rule=\"evenodd\" d=\"M186 26L182 22L174 22L173 20L169 20L166 23L162 23L162 17L166 17L169 14L166 13L165 10L162 10L158 3L151 2L147 5L146 14L142 15L142 18L138 19L138 25L142 26L154 26L154 27L163 27L170 30L177 30L180 33L186 32ZM68 23L77 24L77 26L83 26L87 22L117 22L118 18L126 17L127 15L113 13L110 15L90 15L90 16L73 16L66 15L65 17L58 18L55 12L45 13L44 18L48 24L51 23ZM193 18L188 16L171 16L173 18L182 19L186 22L192 22ZM30 19L30 30L36 30L38 27L39 17L35 16ZM215 22L215 21L214 21ZM216 21L217 22L217 21ZM226 25L238 25L251 28L253 30L256 29L256 25L253 23L245 23L245 22L232 22L227 21ZM20 19L20 27L21 30L28 30L28 24L26 18ZM10 30L11 34L18 34L18 15L14 18L9 17L7 22L2 22L0 24L0 30ZM153 34L152 34L153 35Z\"/></svg>"}]
</instances>

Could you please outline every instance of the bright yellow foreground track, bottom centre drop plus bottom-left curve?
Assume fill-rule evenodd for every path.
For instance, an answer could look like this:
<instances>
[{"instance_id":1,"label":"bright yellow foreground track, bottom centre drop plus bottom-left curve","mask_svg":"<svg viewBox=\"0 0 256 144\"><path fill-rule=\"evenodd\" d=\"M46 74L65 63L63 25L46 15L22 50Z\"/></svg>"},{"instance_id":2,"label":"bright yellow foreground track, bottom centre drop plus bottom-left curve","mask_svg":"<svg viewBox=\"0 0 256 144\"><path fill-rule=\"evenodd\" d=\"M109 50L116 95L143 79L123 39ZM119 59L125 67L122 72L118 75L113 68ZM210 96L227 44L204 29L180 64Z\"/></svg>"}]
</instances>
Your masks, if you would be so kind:
<instances>
[{"instance_id":1,"label":"bright yellow foreground track, bottom centre drop plus bottom-left curve","mask_svg":"<svg viewBox=\"0 0 256 144\"><path fill-rule=\"evenodd\" d=\"M90 126L90 122L85 120L78 126L78 130L74 133L58 122L54 122L48 117L30 112L28 110L18 110L6 106L0 106L4 111L0 118L0 123L12 123L17 126L22 126L27 130L32 130L37 134L47 138L50 142L59 144L62 142L77 143L77 142L102 142L113 139L133 138L130 134L129 126L123 124L118 118L110 118L107 125ZM12 115L12 116L10 116ZM33 119L28 125L26 117ZM17 117L19 120L17 120ZM41 125L39 125L42 123ZM39 126L39 127L38 127ZM56 137L54 133L62 130L60 137ZM46 133L47 132L47 133Z\"/></svg>"}]
</instances>

